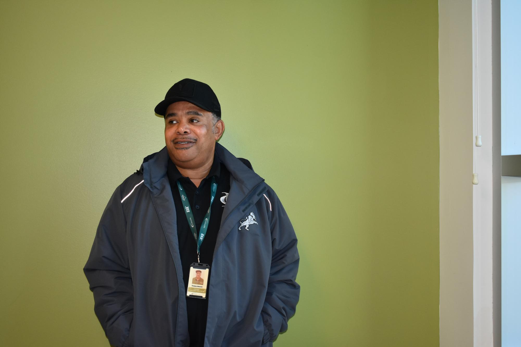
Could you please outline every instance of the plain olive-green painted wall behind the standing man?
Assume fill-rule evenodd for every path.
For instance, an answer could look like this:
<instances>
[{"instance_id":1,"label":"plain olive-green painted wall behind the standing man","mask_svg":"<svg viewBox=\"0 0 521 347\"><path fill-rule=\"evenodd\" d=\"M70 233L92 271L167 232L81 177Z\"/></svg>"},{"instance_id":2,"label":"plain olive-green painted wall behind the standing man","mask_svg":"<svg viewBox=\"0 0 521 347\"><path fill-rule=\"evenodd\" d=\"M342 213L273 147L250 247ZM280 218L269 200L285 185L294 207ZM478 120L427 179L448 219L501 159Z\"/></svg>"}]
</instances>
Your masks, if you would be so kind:
<instances>
[{"instance_id":1,"label":"plain olive-green painted wall behind the standing man","mask_svg":"<svg viewBox=\"0 0 521 347\"><path fill-rule=\"evenodd\" d=\"M0 37L0 345L107 345L82 267L187 77L299 237L276 346L439 345L437 1L13 0Z\"/></svg>"}]
</instances>

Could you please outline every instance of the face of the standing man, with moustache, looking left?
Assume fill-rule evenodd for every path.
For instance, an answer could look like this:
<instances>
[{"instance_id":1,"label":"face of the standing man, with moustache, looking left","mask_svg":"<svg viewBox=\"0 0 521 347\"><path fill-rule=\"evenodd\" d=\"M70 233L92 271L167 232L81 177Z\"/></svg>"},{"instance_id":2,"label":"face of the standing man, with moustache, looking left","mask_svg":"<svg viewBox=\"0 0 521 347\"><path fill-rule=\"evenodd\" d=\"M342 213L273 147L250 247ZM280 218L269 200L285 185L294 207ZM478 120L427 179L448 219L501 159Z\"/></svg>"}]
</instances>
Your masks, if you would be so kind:
<instances>
[{"instance_id":1,"label":"face of the standing man, with moustache, looking left","mask_svg":"<svg viewBox=\"0 0 521 347\"><path fill-rule=\"evenodd\" d=\"M165 143L170 159L185 169L197 169L212 158L224 122L214 126L212 112L188 101L174 102L165 113Z\"/></svg>"}]
</instances>

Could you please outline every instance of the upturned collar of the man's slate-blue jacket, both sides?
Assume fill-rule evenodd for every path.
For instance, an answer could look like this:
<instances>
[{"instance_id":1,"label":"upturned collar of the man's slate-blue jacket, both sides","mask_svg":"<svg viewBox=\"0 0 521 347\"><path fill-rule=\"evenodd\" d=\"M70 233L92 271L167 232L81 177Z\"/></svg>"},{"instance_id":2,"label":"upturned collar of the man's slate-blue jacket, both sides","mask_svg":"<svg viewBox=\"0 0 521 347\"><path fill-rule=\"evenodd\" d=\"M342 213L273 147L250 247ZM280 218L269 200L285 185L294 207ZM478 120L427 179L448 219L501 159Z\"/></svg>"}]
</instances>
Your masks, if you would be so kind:
<instances>
[{"instance_id":1,"label":"upturned collar of the man's slate-blue jacket, both sides","mask_svg":"<svg viewBox=\"0 0 521 347\"><path fill-rule=\"evenodd\" d=\"M225 164L235 180L246 189L252 189L259 182L264 180L219 143L215 143L215 154L219 157L221 162ZM143 172L145 186L151 191L157 191L157 189L159 189L157 183L166 177L169 160L170 157L168 156L166 146L159 152L153 153L143 159L140 171Z\"/></svg>"}]
</instances>

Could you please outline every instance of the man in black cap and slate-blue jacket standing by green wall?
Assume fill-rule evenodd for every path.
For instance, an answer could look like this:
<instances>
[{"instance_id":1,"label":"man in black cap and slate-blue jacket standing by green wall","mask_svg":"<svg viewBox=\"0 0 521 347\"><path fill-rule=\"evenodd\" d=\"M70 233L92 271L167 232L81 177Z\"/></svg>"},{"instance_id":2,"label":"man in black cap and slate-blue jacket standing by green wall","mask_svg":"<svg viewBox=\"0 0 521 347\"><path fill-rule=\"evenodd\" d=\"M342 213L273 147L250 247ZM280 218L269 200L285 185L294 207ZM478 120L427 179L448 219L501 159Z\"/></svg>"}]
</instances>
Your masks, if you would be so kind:
<instances>
[{"instance_id":1,"label":"man in black cap and slate-blue jacket standing by green wall","mask_svg":"<svg viewBox=\"0 0 521 347\"><path fill-rule=\"evenodd\" d=\"M166 147L116 188L84 267L106 336L115 346L271 346L300 293L288 216L249 161L217 143L225 124L207 84L177 82L155 112ZM205 294L187 291L196 267L209 269Z\"/></svg>"}]
</instances>

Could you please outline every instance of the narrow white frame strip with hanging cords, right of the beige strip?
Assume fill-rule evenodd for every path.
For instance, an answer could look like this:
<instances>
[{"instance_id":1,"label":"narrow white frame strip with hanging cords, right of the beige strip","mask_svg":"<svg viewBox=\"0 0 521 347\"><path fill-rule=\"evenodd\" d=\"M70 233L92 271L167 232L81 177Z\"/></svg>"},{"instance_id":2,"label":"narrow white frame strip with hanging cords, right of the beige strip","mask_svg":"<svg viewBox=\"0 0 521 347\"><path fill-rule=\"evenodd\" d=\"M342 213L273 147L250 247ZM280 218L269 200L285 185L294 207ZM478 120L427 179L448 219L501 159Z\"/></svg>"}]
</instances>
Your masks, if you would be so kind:
<instances>
[{"instance_id":1,"label":"narrow white frame strip with hanging cords, right of the beige strip","mask_svg":"<svg viewBox=\"0 0 521 347\"><path fill-rule=\"evenodd\" d=\"M473 1L474 346L501 346L501 11L499 0ZM479 134L476 132L479 126Z\"/></svg>"}]
</instances>

